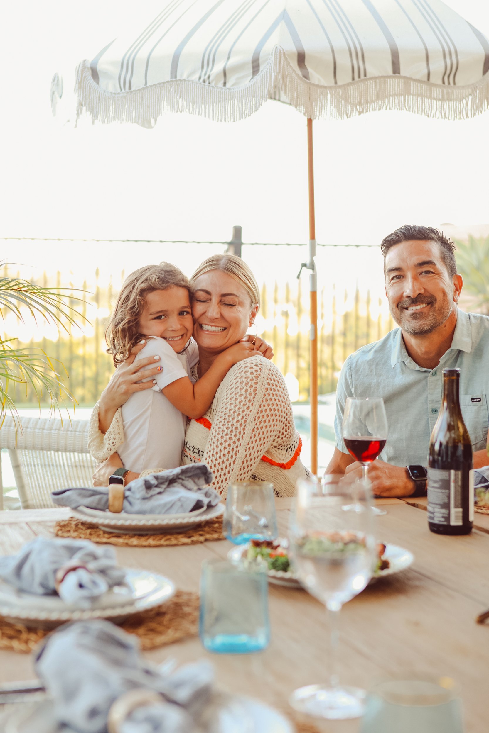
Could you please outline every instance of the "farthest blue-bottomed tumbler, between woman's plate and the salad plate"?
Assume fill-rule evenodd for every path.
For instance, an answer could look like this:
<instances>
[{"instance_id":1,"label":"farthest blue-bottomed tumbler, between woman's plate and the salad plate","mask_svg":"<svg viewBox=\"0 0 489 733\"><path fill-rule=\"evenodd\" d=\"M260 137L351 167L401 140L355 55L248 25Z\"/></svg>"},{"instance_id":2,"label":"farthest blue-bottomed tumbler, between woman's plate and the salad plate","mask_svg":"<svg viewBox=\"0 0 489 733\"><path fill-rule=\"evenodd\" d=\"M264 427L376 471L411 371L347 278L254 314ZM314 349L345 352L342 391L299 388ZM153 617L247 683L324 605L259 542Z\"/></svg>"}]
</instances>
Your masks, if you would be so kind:
<instances>
[{"instance_id":1,"label":"farthest blue-bottomed tumbler, between woman's plate and the salad plate","mask_svg":"<svg viewBox=\"0 0 489 733\"><path fill-rule=\"evenodd\" d=\"M276 539L273 484L262 481L230 484L222 529L235 545L243 545L250 539Z\"/></svg>"}]
</instances>

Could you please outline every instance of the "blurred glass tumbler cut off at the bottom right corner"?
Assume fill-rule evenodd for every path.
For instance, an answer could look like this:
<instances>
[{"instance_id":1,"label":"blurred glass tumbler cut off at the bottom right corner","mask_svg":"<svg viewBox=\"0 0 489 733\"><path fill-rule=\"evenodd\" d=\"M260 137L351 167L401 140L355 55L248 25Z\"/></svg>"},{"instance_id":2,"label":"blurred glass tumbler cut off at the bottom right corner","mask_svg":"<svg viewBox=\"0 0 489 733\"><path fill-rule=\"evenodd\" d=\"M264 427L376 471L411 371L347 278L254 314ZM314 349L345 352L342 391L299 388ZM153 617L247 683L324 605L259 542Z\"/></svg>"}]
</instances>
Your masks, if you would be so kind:
<instances>
[{"instance_id":1,"label":"blurred glass tumbler cut off at the bottom right corner","mask_svg":"<svg viewBox=\"0 0 489 733\"><path fill-rule=\"evenodd\" d=\"M452 679L403 675L374 685L361 733L463 733L462 703Z\"/></svg>"}]
</instances>

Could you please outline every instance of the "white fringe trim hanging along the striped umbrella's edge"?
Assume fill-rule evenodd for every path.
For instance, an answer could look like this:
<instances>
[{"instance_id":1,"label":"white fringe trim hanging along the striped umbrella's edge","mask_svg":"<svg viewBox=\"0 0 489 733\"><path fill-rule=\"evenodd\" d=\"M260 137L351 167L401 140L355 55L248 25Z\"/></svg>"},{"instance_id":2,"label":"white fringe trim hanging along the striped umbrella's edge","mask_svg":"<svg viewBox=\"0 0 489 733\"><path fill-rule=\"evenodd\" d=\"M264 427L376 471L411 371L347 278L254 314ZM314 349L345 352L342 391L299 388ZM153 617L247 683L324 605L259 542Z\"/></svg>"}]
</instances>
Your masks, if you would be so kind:
<instances>
[{"instance_id":1,"label":"white fringe trim hanging along the striped umbrella's edge","mask_svg":"<svg viewBox=\"0 0 489 733\"><path fill-rule=\"evenodd\" d=\"M286 52L275 46L249 84L226 88L189 79L163 81L127 92L107 92L95 83L90 64L76 70L76 119L85 110L99 122L153 127L164 112L187 112L217 122L239 122L268 99L286 97L311 119L344 119L378 110L404 110L439 119L468 119L489 108L489 73L474 84L445 86L400 75L377 76L338 86L304 79Z\"/></svg>"}]
</instances>

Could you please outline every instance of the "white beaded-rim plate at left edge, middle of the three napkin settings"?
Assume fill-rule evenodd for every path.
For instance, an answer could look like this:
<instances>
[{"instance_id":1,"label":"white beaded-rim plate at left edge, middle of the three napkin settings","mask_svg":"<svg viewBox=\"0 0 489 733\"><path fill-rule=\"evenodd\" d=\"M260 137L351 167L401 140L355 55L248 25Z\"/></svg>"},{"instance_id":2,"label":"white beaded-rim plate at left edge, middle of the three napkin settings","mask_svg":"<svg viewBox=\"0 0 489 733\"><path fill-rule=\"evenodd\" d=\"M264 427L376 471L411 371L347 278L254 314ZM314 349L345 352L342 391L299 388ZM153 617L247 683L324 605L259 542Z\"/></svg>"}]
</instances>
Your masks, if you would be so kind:
<instances>
[{"instance_id":1,"label":"white beaded-rim plate at left edge, middle of the three napkin settings","mask_svg":"<svg viewBox=\"0 0 489 733\"><path fill-rule=\"evenodd\" d=\"M19 591L0 581L0 616L25 625L54 626L85 619L122 619L156 605L175 593L168 578L147 570L126 569L126 578L93 602L89 609L68 605L58 595L40 596Z\"/></svg>"}]
</instances>

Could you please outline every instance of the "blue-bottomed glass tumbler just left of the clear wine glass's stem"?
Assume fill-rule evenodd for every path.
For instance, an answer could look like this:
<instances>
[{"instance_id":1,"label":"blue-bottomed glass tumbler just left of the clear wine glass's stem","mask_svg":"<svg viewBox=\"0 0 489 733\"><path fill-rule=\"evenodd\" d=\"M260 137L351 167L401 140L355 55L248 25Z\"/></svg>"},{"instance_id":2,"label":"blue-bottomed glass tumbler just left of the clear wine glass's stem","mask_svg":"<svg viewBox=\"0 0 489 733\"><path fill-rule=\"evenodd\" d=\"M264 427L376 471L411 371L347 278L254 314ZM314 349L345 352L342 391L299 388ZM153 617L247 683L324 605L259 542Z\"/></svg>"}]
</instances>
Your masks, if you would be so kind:
<instances>
[{"instance_id":1,"label":"blue-bottomed glass tumbler just left of the clear wine glass's stem","mask_svg":"<svg viewBox=\"0 0 489 733\"><path fill-rule=\"evenodd\" d=\"M226 560L205 560L200 575L199 636L208 652L246 654L270 641L264 568L245 570Z\"/></svg>"}]
</instances>

